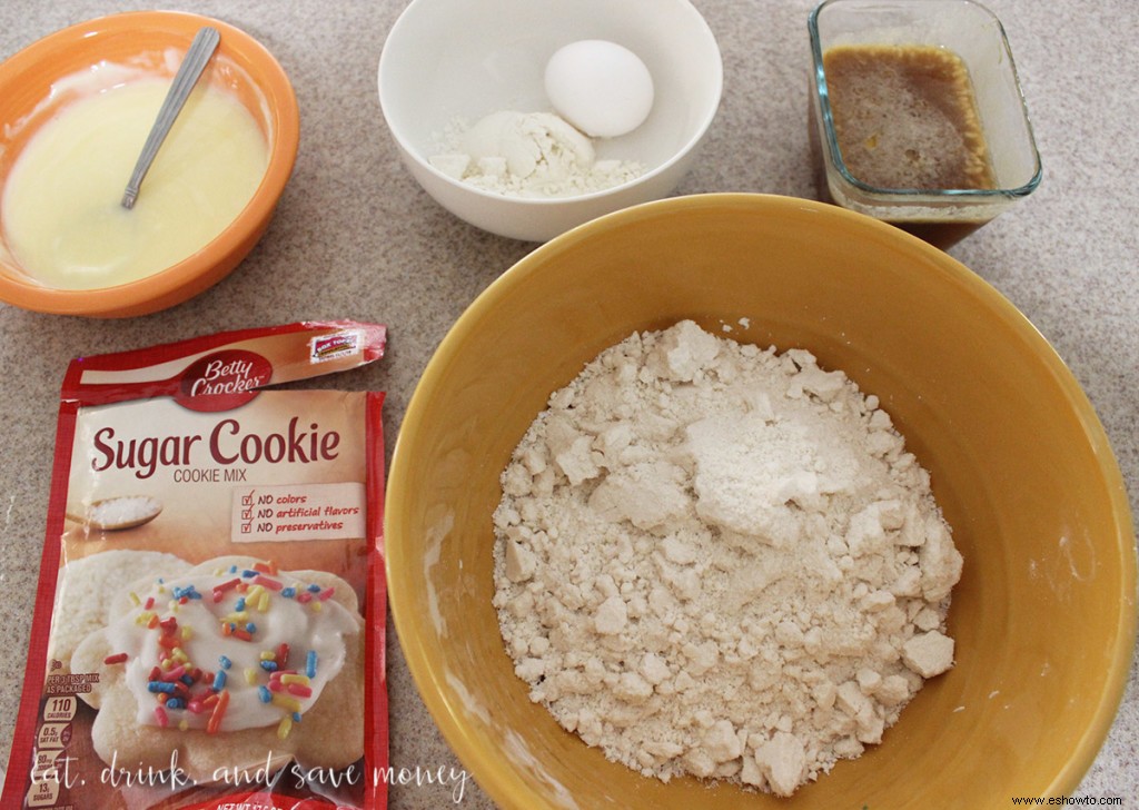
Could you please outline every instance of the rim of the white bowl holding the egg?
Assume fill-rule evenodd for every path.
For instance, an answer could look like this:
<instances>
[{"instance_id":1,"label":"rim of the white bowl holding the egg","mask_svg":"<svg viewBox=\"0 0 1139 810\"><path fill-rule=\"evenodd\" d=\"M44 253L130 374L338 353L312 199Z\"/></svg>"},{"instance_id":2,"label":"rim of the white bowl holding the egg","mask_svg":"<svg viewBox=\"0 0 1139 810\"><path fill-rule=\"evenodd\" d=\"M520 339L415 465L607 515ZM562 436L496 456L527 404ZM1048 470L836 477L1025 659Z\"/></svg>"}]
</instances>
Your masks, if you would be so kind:
<instances>
[{"instance_id":1,"label":"rim of the white bowl holding the egg","mask_svg":"<svg viewBox=\"0 0 1139 810\"><path fill-rule=\"evenodd\" d=\"M439 181L441 181L442 183L452 189L458 189L462 194L470 194L476 198L482 198L485 201L494 201L495 204L524 205L524 206L535 206L535 207L565 205L567 203L603 199L614 194L624 193L628 191L629 189L636 189L640 186L653 182L657 177L670 171L673 166L683 161L689 154L691 154L699 146L700 141L704 139L708 130L712 128L712 123L715 121L715 116L720 111L720 104L723 99L723 54L720 50L720 43L716 41L715 33L712 31L712 27L704 18L704 15L699 13L699 9L697 9L691 3L690 0L670 0L670 1L677 3L681 8L685 8L686 13L690 14L694 27L699 30L702 36L706 38L706 43L710 44L712 48L711 55L714 57L712 59L713 93L710 98L707 111L704 114L704 116L699 120L698 125L696 126L696 130L693 132L691 137L688 138L688 140L686 140L675 152L673 152L673 154L663 163L653 167L649 171L646 171L642 174L638 174L636 178L632 178L631 180L618 183L616 186L611 186L608 188L603 188L597 191L587 191L583 194L574 194L565 197L521 197L517 195L499 194L484 188L480 188L478 186L473 186L472 183L464 182L461 180L457 180L450 174L446 174L445 172L442 172L434 165L432 165L431 161L426 159L423 156L421 149L415 146L411 142L411 140L401 131L399 131L399 129L392 123L392 115L390 112L392 106L390 101L391 91L388 91L388 93L384 92L386 84L385 75L391 75L391 72L395 69L394 67L391 67L392 57L390 56L391 51L387 48L388 42L392 40L393 36L399 34L399 31L401 28L410 25L410 23L408 22L409 15L415 14L418 7L427 2L431 2L431 0L411 0L411 2L408 3L407 8L404 8L403 11L400 13L400 16L395 19L395 23L392 24L392 27L384 40L384 47L379 54L379 66L377 69L379 107L380 107L380 113L384 116L384 123L387 125L387 131L392 136L392 139L400 147L400 150L407 156L407 159L412 161L417 166L420 167L420 170L427 172L428 174L436 178ZM385 66L387 66L386 71Z\"/></svg>"}]
</instances>

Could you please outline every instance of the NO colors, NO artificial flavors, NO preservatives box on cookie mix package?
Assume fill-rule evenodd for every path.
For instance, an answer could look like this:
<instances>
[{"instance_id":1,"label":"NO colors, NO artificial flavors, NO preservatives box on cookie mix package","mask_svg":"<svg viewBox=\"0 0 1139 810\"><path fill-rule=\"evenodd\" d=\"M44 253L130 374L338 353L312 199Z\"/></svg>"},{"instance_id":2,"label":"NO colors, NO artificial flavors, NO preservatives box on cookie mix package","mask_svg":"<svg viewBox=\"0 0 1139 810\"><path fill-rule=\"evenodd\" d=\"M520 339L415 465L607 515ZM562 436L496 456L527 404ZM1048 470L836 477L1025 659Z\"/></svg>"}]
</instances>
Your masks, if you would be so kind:
<instances>
[{"instance_id":1,"label":"NO colors, NO artificial flavors, NO preservatives box on cookie mix package","mask_svg":"<svg viewBox=\"0 0 1139 810\"><path fill-rule=\"evenodd\" d=\"M362 538L366 504L357 482L239 486L231 534L233 542Z\"/></svg>"}]
</instances>

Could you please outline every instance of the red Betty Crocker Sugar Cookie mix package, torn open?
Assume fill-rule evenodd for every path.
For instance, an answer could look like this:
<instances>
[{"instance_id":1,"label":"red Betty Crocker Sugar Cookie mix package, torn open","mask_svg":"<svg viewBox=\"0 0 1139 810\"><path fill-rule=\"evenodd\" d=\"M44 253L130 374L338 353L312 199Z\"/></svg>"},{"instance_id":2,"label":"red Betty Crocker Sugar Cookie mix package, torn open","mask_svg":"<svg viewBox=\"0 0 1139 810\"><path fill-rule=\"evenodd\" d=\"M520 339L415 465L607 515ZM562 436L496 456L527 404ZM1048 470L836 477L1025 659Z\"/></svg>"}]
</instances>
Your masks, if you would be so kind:
<instances>
[{"instance_id":1,"label":"red Betty Crocker Sugar Cookie mix package, torn open","mask_svg":"<svg viewBox=\"0 0 1139 810\"><path fill-rule=\"evenodd\" d=\"M3 807L386 805L384 395L281 387L385 339L71 363Z\"/></svg>"}]
</instances>

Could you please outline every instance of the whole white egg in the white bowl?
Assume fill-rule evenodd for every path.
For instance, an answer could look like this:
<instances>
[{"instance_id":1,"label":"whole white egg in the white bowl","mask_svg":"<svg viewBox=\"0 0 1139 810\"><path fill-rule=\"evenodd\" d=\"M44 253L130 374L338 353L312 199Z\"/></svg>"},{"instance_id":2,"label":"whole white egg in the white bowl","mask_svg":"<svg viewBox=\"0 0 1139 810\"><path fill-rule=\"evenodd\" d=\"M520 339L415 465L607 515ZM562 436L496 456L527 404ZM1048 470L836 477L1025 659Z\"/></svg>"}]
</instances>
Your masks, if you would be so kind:
<instances>
[{"instance_id":1,"label":"whole white egg in the white bowl","mask_svg":"<svg viewBox=\"0 0 1139 810\"><path fill-rule=\"evenodd\" d=\"M645 123L653 108L653 76L628 48L607 40L563 46L546 65L554 109L585 134L615 138Z\"/></svg>"}]
</instances>

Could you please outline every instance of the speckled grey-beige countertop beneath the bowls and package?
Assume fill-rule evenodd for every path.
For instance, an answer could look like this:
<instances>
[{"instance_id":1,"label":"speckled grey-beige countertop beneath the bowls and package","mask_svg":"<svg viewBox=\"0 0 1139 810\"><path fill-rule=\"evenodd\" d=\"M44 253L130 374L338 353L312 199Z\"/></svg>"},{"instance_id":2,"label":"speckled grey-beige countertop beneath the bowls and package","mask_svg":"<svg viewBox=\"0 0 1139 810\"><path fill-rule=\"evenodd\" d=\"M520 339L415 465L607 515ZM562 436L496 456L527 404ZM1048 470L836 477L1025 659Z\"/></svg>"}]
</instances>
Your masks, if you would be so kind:
<instances>
[{"instance_id":1,"label":"speckled grey-beige countertop beneath the bowls and package","mask_svg":"<svg viewBox=\"0 0 1139 810\"><path fill-rule=\"evenodd\" d=\"M196 300L126 321L0 305L0 763L7 761L48 504L57 395L76 354L300 319L385 322L390 353L337 385L388 392L388 448L432 351L468 303L533 245L435 205L403 170L380 116L376 66L404 2L175 0L261 40L301 105L296 170L260 246ZM1044 162L1040 189L951 249L1052 343L1084 386L1139 498L1139 16L1128 0L990 0L1021 71ZM151 3L3 0L0 57L67 24ZM806 140L812 0L696 0L720 41L726 83L698 165L678 193L814 197ZM390 629L391 630L391 629ZM392 761L458 767L388 639ZM1139 677L1080 795L1139 807ZM393 808L446 807L451 787L395 787ZM1129 803L1130 802L1130 803ZM468 786L464 807L489 807Z\"/></svg>"}]
</instances>

